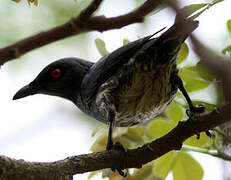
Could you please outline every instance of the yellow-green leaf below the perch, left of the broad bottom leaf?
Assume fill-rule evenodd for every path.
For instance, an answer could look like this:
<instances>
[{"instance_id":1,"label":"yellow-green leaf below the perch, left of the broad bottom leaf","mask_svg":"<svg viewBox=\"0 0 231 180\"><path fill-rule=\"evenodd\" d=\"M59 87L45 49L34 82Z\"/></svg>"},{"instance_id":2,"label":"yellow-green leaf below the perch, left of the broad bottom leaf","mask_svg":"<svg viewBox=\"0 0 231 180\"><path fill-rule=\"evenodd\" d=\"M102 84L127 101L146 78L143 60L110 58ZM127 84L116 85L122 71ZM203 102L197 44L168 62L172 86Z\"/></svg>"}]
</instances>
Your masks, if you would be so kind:
<instances>
[{"instance_id":1,"label":"yellow-green leaf below the perch, left of the broad bottom leaf","mask_svg":"<svg viewBox=\"0 0 231 180\"><path fill-rule=\"evenodd\" d=\"M165 179L172 170L174 161L174 151L168 152L156 160L154 167L155 174Z\"/></svg>"}]
</instances>

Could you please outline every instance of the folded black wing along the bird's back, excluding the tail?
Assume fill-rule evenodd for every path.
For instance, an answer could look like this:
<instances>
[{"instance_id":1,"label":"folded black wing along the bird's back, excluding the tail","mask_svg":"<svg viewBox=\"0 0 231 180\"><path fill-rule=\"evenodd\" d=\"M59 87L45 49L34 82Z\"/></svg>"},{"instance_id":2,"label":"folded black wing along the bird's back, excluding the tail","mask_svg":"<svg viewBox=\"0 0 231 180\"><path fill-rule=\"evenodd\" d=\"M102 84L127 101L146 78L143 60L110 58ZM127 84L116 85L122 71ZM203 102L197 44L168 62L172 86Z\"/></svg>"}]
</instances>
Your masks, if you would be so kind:
<instances>
[{"instance_id":1,"label":"folded black wing along the bird's back, excluding the tail","mask_svg":"<svg viewBox=\"0 0 231 180\"><path fill-rule=\"evenodd\" d=\"M99 87L146 43L153 35L131 42L114 52L102 57L85 75L81 85L81 96L85 103L90 103Z\"/></svg>"}]
</instances>

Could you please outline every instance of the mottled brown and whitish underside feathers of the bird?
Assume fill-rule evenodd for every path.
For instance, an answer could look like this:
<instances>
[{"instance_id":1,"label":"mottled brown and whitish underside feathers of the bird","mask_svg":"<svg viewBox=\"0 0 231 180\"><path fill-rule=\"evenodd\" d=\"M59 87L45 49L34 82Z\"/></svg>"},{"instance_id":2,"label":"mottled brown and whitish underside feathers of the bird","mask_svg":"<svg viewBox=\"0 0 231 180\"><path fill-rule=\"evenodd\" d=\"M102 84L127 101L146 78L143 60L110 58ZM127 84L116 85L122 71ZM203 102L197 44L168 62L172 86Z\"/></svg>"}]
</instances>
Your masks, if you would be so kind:
<instances>
[{"instance_id":1,"label":"mottled brown and whitish underside feathers of the bird","mask_svg":"<svg viewBox=\"0 0 231 180\"><path fill-rule=\"evenodd\" d=\"M145 60L144 60L145 61ZM107 121L109 108L115 110L115 126L132 126L151 120L172 102L177 88L171 83L175 60L158 64L131 58L109 78L96 96L96 105Z\"/></svg>"}]
</instances>

